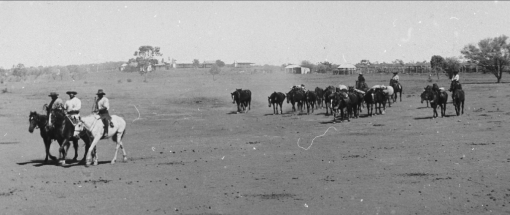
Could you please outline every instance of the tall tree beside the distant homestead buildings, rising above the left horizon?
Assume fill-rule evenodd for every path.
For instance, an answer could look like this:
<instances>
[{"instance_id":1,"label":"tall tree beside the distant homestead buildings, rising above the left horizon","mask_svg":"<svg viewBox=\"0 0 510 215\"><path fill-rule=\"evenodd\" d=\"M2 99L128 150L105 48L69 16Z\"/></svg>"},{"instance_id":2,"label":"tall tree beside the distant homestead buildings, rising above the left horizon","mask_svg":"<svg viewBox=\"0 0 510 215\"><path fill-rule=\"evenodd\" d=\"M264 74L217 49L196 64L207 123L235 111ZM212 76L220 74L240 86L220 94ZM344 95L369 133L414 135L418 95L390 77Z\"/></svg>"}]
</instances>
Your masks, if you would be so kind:
<instances>
[{"instance_id":1,"label":"tall tree beside the distant homestead buildings, rising above the left horizon","mask_svg":"<svg viewBox=\"0 0 510 215\"><path fill-rule=\"evenodd\" d=\"M152 71L152 65L158 64L156 57L162 55L160 47L152 47L150 45L140 46L138 51L135 51L135 62L138 63L137 67L140 69L140 74L144 76L144 82L147 82L147 73Z\"/></svg>"}]
</instances>

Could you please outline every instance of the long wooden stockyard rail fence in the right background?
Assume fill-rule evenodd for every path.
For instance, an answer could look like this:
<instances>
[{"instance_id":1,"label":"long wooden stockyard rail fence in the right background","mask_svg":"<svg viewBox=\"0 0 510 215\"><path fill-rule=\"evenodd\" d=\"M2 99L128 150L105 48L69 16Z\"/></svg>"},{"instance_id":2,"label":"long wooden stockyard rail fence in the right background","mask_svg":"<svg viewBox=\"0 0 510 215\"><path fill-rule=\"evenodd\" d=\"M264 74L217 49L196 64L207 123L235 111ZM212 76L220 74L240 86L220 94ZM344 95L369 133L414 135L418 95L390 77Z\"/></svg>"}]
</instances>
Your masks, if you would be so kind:
<instances>
[{"instance_id":1,"label":"long wooden stockyard rail fence in the right background","mask_svg":"<svg viewBox=\"0 0 510 215\"><path fill-rule=\"evenodd\" d=\"M429 66L407 66L407 67L359 67L355 70L333 70L333 74L340 74L340 75L352 75L352 74L370 74L370 73L386 73L391 74L394 72L398 73L444 73L444 70L440 68L431 68ZM467 67L463 66L459 70L460 73L488 73L490 71L484 69L481 66L478 67ZM510 73L510 67L505 67L503 69L503 72Z\"/></svg>"}]
</instances>

